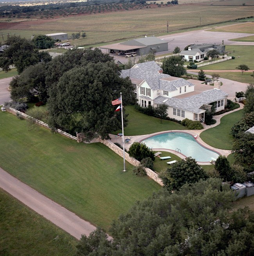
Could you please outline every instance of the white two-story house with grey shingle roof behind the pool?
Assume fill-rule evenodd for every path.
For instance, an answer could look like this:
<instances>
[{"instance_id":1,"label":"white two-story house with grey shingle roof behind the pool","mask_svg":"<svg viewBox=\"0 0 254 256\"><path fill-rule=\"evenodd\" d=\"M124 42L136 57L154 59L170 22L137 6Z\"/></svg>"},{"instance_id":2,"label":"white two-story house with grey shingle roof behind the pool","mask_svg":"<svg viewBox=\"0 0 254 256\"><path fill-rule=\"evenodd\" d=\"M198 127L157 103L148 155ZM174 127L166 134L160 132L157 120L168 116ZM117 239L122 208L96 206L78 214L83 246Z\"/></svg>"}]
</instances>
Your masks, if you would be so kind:
<instances>
[{"instance_id":1,"label":"white two-story house with grey shingle roof behind the pool","mask_svg":"<svg viewBox=\"0 0 254 256\"><path fill-rule=\"evenodd\" d=\"M183 78L176 78L162 73L155 61L134 65L122 70L122 77L127 77L136 88L137 101L142 107L165 104L168 117L204 122L204 113L213 103L216 112L223 110L227 104L227 95L218 88L195 92L195 85ZM220 82L219 82L220 83Z\"/></svg>"}]
</instances>

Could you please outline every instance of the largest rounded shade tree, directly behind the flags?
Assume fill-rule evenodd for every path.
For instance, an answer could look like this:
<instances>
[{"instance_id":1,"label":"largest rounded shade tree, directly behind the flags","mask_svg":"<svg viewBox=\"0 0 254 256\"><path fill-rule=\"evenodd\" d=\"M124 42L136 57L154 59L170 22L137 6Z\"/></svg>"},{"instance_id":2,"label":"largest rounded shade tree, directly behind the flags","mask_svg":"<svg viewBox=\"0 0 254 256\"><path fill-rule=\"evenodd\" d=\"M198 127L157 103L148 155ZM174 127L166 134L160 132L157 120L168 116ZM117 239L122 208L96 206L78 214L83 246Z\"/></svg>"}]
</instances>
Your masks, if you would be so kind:
<instances>
[{"instance_id":1,"label":"largest rounded shade tree, directly behind the flags","mask_svg":"<svg viewBox=\"0 0 254 256\"><path fill-rule=\"evenodd\" d=\"M99 135L108 139L109 132L121 127L120 114L114 112L111 101L119 98L120 92L124 105L135 101L131 80L119 75L112 61L88 63L63 74L49 90L49 125L70 133L82 132L86 140Z\"/></svg>"}]
</instances>

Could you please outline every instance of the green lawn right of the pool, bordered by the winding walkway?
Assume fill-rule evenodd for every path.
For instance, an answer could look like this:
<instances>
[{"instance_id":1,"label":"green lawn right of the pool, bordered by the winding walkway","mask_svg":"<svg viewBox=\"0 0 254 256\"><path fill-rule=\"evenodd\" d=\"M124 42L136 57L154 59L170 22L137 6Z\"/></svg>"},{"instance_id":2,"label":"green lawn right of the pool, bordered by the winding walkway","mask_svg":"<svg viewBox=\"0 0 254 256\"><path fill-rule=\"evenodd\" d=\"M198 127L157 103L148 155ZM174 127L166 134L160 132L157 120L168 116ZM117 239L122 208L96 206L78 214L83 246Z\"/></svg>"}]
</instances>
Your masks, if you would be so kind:
<instances>
[{"instance_id":1,"label":"green lawn right of the pool, bordered by the winding walkway","mask_svg":"<svg viewBox=\"0 0 254 256\"><path fill-rule=\"evenodd\" d=\"M212 147L231 150L233 136L229 134L231 127L243 116L243 110L225 115L220 124L200 133L200 138Z\"/></svg>"}]
</instances>

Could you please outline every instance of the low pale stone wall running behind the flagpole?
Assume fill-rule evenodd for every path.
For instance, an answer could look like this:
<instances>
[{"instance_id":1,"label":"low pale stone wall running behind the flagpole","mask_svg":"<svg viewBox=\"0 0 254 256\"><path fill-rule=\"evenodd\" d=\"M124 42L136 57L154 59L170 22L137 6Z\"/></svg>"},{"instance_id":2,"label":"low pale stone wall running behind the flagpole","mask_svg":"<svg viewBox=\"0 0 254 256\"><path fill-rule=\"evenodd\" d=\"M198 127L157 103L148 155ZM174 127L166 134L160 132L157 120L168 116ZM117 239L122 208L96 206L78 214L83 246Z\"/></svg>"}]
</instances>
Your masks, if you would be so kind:
<instances>
[{"instance_id":1,"label":"low pale stone wall running behind the flagpole","mask_svg":"<svg viewBox=\"0 0 254 256\"><path fill-rule=\"evenodd\" d=\"M104 145L106 145L111 150L113 150L116 154L120 155L120 157L123 157L123 150L122 150L122 148L119 148L118 146L116 146L112 141L100 139L100 142L103 143ZM134 166L138 166L140 164L140 161L136 160L133 157L130 157L127 152L125 152L125 160L127 162L129 162L130 164L134 165ZM157 173L155 173L154 171L152 171L149 168L145 168L145 171L146 171L148 177L152 178L154 181L156 181L161 186L163 186L163 182L158 177Z\"/></svg>"}]
</instances>

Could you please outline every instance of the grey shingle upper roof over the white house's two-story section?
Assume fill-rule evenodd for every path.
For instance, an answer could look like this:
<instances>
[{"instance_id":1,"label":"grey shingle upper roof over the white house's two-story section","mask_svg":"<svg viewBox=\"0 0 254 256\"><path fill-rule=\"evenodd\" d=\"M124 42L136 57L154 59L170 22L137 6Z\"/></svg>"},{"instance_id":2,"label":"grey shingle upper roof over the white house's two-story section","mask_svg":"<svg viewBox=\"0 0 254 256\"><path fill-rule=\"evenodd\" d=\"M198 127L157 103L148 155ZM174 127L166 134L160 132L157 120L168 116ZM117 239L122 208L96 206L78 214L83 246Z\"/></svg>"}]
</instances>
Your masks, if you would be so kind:
<instances>
[{"instance_id":1,"label":"grey shingle upper roof over the white house's two-story section","mask_svg":"<svg viewBox=\"0 0 254 256\"><path fill-rule=\"evenodd\" d=\"M159 69L161 68L155 61L148 61L138 63L131 69L122 70L121 76L123 78L129 76L131 79L145 80L153 91L161 89L172 92L182 86L194 86L183 78L175 78L173 81L167 81L166 79L171 76L167 74L159 74Z\"/></svg>"}]
</instances>

